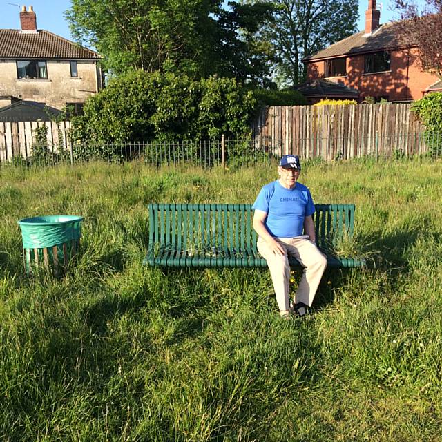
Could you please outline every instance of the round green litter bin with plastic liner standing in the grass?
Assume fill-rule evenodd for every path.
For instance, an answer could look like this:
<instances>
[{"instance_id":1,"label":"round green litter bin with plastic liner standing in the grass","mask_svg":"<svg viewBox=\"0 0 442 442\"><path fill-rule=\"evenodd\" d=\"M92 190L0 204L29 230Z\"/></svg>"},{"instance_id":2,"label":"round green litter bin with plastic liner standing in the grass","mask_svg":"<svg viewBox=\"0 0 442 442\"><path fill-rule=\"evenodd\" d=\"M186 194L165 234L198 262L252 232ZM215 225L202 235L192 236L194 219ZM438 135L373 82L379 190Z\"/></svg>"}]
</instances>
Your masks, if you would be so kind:
<instances>
[{"instance_id":1,"label":"round green litter bin with plastic liner standing in the grass","mask_svg":"<svg viewBox=\"0 0 442 442\"><path fill-rule=\"evenodd\" d=\"M34 267L52 267L59 275L75 256L80 244L81 221L76 215L48 215L23 218L19 226L23 238L26 271Z\"/></svg>"}]
</instances>

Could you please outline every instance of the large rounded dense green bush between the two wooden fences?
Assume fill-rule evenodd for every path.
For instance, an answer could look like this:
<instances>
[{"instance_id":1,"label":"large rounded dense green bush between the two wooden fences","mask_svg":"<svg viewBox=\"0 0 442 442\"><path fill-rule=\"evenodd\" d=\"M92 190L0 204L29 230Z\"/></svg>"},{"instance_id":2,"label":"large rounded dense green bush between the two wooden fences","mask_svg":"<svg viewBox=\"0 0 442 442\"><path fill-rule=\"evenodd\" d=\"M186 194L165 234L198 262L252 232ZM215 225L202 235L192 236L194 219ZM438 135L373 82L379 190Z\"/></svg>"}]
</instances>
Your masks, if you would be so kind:
<instances>
[{"instance_id":1,"label":"large rounded dense green bush between the two wooden fences","mask_svg":"<svg viewBox=\"0 0 442 442\"><path fill-rule=\"evenodd\" d=\"M250 131L256 99L235 79L136 70L117 79L73 121L77 143L204 140Z\"/></svg>"}]
</instances>

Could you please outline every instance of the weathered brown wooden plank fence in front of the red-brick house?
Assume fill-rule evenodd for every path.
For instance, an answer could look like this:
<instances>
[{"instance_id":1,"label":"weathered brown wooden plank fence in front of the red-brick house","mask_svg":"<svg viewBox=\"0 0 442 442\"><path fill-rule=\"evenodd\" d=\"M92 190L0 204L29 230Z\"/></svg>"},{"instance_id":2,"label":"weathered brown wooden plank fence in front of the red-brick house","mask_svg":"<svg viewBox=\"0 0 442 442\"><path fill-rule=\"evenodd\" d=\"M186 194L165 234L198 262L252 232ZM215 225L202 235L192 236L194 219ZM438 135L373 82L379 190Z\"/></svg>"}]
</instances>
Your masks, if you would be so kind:
<instances>
[{"instance_id":1,"label":"weathered brown wooden plank fence in front of the red-brick house","mask_svg":"<svg viewBox=\"0 0 442 442\"><path fill-rule=\"evenodd\" d=\"M258 145L279 144L278 155L325 160L425 153L423 130L410 104L266 107L252 126Z\"/></svg>"}]
</instances>

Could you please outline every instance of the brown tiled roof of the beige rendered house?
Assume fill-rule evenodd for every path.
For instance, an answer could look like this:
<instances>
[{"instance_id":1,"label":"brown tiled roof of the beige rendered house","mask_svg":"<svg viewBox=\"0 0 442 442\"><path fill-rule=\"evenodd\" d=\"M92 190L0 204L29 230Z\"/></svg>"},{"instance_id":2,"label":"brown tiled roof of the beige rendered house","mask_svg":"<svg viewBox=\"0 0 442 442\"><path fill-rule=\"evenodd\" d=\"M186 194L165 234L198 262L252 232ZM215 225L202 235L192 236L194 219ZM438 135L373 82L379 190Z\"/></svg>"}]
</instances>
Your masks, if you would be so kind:
<instances>
[{"instance_id":1,"label":"brown tiled roof of the beige rendered house","mask_svg":"<svg viewBox=\"0 0 442 442\"><path fill-rule=\"evenodd\" d=\"M97 52L47 30L0 29L0 58L99 59Z\"/></svg>"}]
</instances>

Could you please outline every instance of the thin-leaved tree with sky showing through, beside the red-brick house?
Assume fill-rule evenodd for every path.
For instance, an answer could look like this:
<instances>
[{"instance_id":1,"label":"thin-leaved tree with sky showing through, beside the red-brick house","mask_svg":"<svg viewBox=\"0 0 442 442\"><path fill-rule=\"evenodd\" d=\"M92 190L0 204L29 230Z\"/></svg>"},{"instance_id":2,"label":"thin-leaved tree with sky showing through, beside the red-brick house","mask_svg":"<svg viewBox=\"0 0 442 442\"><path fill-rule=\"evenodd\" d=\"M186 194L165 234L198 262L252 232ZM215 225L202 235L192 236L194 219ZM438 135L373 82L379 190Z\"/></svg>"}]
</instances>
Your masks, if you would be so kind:
<instances>
[{"instance_id":1,"label":"thin-leaved tree with sky showing through, beside the red-brick house","mask_svg":"<svg viewBox=\"0 0 442 442\"><path fill-rule=\"evenodd\" d=\"M302 59L356 32L357 0L270 0L274 21L261 37L271 42L280 86L304 81Z\"/></svg>"}]
</instances>

